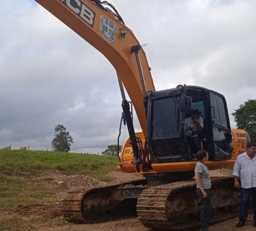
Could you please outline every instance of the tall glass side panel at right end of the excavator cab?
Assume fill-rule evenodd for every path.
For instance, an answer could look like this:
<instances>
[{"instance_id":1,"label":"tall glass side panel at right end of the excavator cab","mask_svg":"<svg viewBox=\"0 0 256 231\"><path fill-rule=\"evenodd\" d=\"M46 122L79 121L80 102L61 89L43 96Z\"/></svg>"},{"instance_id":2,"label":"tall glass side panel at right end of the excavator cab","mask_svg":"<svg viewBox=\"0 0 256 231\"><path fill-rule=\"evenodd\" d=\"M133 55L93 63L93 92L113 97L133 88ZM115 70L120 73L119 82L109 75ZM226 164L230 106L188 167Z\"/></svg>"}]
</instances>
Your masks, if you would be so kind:
<instances>
[{"instance_id":1,"label":"tall glass side panel at right end of the excavator cab","mask_svg":"<svg viewBox=\"0 0 256 231\"><path fill-rule=\"evenodd\" d=\"M210 92L210 106L213 131L212 150L214 159L231 159L233 151L232 133L224 96L217 92Z\"/></svg>"}]
</instances>

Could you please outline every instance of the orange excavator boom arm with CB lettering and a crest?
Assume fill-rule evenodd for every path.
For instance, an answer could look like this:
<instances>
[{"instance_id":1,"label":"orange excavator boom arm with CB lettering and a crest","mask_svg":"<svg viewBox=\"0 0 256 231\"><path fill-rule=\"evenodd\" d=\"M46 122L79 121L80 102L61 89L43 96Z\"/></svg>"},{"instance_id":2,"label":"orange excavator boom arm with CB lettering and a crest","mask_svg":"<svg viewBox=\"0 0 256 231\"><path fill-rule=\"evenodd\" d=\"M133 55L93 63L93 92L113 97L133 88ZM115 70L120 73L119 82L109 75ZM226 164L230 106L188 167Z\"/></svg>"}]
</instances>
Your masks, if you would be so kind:
<instances>
[{"instance_id":1,"label":"orange excavator boom arm with CB lettering and a crest","mask_svg":"<svg viewBox=\"0 0 256 231\"><path fill-rule=\"evenodd\" d=\"M146 136L143 84L136 55L132 52L132 47L140 43L132 31L98 0L35 1L98 49L112 63L133 103L143 134ZM146 54L142 48L138 52L146 91L155 91Z\"/></svg>"}]
</instances>

